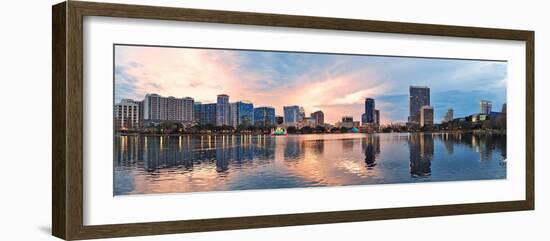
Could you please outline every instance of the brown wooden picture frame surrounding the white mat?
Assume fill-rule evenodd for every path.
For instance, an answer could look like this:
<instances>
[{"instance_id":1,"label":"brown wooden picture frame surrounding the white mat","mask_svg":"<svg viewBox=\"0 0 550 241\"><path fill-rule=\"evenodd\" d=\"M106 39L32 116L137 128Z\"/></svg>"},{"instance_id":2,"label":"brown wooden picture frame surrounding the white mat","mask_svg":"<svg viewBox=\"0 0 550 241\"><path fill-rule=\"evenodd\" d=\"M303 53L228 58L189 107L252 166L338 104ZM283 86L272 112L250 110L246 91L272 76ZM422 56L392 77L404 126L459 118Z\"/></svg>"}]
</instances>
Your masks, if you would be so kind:
<instances>
[{"instance_id":1,"label":"brown wooden picture frame surrounding the white mat","mask_svg":"<svg viewBox=\"0 0 550 241\"><path fill-rule=\"evenodd\" d=\"M265 228L291 225L533 210L534 188L534 32L325 17L275 15L169 7L68 1L52 8L52 233L66 239ZM214 218L87 226L83 224L83 17L107 16L208 23L366 31L526 43L525 200L422 207Z\"/></svg>"}]
</instances>

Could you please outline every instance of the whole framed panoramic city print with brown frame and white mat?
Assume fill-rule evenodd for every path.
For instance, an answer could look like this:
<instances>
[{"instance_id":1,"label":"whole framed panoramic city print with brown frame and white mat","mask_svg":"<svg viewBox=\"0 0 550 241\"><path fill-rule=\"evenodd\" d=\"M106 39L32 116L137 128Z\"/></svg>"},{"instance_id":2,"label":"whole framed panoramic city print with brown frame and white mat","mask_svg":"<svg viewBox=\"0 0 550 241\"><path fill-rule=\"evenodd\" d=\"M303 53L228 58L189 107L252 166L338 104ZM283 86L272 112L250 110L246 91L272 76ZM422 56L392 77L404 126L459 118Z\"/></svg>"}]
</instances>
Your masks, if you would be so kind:
<instances>
[{"instance_id":1,"label":"whole framed panoramic city print with brown frame and white mat","mask_svg":"<svg viewBox=\"0 0 550 241\"><path fill-rule=\"evenodd\" d=\"M57 237L534 209L532 31L77 1L52 24Z\"/></svg>"}]
</instances>

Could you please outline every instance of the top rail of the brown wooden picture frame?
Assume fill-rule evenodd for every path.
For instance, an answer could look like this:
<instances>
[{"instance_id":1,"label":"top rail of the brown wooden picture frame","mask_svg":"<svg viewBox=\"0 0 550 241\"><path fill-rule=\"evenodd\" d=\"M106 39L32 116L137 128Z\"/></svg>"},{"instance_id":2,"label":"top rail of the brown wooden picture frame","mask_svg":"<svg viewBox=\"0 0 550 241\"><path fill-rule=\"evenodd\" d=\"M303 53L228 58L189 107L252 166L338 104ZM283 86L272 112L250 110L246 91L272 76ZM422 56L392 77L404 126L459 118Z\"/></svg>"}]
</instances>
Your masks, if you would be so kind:
<instances>
[{"instance_id":1,"label":"top rail of the brown wooden picture frame","mask_svg":"<svg viewBox=\"0 0 550 241\"><path fill-rule=\"evenodd\" d=\"M323 30L366 31L464 38L525 40L532 31L428 23L411 23L365 19L347 19L259 12L176 8L68 0L83 15L146 18L151 20L194 21L254 26L312 28ZM185 14L182 14L185 12Z\"/></svg>"}]
</instances>

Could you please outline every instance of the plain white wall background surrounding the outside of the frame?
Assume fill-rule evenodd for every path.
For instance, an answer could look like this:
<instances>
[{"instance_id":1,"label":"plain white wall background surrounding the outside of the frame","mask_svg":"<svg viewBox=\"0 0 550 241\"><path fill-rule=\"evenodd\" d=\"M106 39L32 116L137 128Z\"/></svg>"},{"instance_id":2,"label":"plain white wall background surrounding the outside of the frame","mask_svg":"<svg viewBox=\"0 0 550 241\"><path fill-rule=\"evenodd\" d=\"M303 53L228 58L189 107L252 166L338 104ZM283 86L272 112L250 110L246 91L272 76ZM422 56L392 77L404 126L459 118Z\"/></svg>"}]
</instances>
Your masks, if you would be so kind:
<instances>
[{"instance_id":1,"label":"plain white wall background surrounding the outside of the frame","mask_svg":"<svg viewBox=\"0 0 550 241\"><path fill-rule=\"evenodd\" d=\"M0 10L0 240L56 240L51 230L51 5ZM116 1L190 8L536 31L536 211L123 238L119 240L548 240L550 28L545 1ZM513 81L513 80L511 80ZM506 191L506 190L502 190ZM414 197L411 197L414 198Z\"/></svg>"}]
</instances>

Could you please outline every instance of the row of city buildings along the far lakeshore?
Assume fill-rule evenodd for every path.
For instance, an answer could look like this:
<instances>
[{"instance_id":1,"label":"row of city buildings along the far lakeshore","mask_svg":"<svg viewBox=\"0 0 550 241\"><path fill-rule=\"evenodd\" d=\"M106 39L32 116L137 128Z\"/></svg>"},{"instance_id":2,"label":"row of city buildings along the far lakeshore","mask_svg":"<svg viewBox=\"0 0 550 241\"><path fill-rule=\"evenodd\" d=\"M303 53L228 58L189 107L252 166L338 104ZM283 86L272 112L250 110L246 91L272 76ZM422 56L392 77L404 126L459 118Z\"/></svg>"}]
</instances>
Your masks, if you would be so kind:
<instances>
[{"instance_id":1,"label":"row of city buildings along the far lakeshore","mask_svg":"<svg viewBox=\"0 0 550 241\"><path fill-rule=\"evenodd\" d=\"M460 116L455 119L453 109L449 108L445 112L444 118L438 122L434 119L434 109L429 102L429 87L410 86L409 89L410 111L409 121L406 123L407 125L418 125L419 127L427 125L431 127L434 124L444 124L463 118L486 118L479 117L479 115L492 116L492 118L495 118L506 112L506 104L503 104L500 110L496 110L491 108L491 101L480 100L480 112L471 113L471 115L468 116ZM220 100L222 100L223 103L220 103ZM213 106L213 108L209 108L208 106ZM136 128L142 120L180 121L182 123L210 124L212 126L232 126L233 128L247 126L273 127L277 124L285 124L287 127L295 126L298 128L306 125L310 127L318 125L324 126L324 124L341 126L346 122L344 119L349 119L349 123L347 124L352 125L355 122L360 123L360 125L386 125L380 122L380 110L374 109L374 99L365 98L364 108L365 112L362 114L360 121L354 121L353 116L344 115L342 116L342 121L326 123L324 121L325 115L322 110L315 111L307 116L304 112L304 108L299 105L284 106L283 116L278 116L275 114L275 108L271 106L254 106L254 103L248 101L230 101L230 96L226 94L217 95L216 103L202 103L195 102L194 98L189 96L176 98L173 96L160 96L156 93L148 93L142 100L122 99L119 103L116 103L115 119L119 126L124 126L126 128ZM367 117L369 112L371 117ZM281 118L280 123L277 123L277 117ZM226 119L226 121L220 121L220 118ZM354 127L354 125L352 127Z\"/></svg>"}]
</instances>

